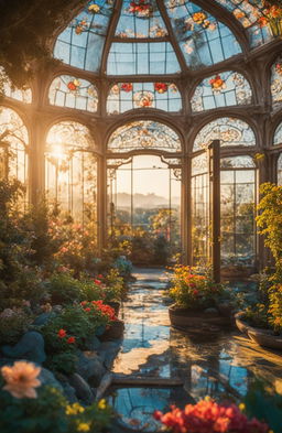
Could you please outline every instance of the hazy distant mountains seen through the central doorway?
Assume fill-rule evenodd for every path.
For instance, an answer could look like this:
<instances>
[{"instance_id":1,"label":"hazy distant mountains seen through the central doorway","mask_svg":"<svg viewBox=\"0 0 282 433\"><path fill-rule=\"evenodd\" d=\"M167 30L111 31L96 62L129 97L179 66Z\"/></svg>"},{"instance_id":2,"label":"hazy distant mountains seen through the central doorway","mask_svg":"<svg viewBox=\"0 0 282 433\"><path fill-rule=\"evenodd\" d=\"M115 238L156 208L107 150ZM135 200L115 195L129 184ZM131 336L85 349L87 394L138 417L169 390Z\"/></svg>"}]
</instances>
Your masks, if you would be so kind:
<instances>
[{"instance_id":1,"label":"hazy distant mountains seen through the central doorway","mask_svg":"<svg viewBox=\"0 0 282 433\"><path fill-rule=\"evenodd\" d=\"M115 197L113 197L115 199ZM133 195L134 208L153 208L161 206L169 206L169 197L162 197L154 193L151 194L134 194ZM181 197L172 197L172 206L180 206ZM131 206L131 195L128 193L117 194L117 206L118 207L130 207Z\"/></svg>"}]
</instances>

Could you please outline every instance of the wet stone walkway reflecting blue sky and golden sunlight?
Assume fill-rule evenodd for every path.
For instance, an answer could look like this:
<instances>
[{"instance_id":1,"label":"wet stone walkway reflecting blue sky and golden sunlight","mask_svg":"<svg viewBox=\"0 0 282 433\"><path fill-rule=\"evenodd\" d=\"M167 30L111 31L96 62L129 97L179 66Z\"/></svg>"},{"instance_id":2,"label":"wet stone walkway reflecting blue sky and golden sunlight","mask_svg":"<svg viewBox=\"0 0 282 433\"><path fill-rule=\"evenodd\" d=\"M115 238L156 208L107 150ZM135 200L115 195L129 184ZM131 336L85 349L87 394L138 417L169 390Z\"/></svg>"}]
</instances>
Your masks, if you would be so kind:
<instances>
[{"instance_id":1,"label":"wet stone walkway reflecting blue sky and golden sunlight","mask_svg":"<svg viewBox=\"0 0 282 433\"><path fill-rule=\"evenodd\" d=\"M122 416L124 427L153 431L155 409L198 400L207 394L240 400L263 378L282 392L282 357L252 344L237 332L215 340L193 342L170 326L167 277L163 270L135 269L123 303L126 323L122 350L113 372L124 378L163 378L183 381L184 387L119 387L110 402Z\"/></svg>"}]
</instances>

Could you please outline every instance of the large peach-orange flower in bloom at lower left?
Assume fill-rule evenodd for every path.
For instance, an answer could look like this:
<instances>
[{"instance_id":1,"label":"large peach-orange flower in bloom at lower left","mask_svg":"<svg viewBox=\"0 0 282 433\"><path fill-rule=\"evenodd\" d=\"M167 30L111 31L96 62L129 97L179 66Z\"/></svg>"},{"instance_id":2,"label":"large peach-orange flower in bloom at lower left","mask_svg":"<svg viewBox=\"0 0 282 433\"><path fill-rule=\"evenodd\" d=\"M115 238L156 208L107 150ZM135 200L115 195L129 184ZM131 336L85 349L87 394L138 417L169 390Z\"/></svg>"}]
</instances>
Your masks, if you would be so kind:
<instances>
[{"instance_id":1,"label":"large peach-orange flower in bloom at lower left","mask_svg":"<svg viewBox=\"0 0 282 433\"><path fill-rule=\"evenodd\" d=\"M37 393L34 388L41 386L37 379L40 372L41 367L26 361L17 361L12 367L4 366L1 368L2 377L7 382L3 389L17 399L35 399Z\"/></svg>"}]
</instances>

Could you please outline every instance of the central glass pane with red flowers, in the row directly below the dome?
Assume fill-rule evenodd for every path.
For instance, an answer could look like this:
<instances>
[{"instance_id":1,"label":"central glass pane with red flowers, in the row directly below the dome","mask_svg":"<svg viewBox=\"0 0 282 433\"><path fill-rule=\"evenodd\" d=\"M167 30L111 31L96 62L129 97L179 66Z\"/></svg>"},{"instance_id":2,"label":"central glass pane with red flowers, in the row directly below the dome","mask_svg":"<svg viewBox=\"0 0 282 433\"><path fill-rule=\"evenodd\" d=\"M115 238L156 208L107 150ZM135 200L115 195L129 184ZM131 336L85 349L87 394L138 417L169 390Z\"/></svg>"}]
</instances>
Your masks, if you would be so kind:
<instances>
[{"instance_id":1,"label":"central glass pane with red flowers, in the row directly below the dome","mask_svg":"<svg viewBox=\"0 0 282 433\"><path fill-rule=\"evenodd\" d=\"M182 98L173 83L118 83L109 93L107 112L119 115L134 108L180 111Z\"/></svg>"}]
</instances>

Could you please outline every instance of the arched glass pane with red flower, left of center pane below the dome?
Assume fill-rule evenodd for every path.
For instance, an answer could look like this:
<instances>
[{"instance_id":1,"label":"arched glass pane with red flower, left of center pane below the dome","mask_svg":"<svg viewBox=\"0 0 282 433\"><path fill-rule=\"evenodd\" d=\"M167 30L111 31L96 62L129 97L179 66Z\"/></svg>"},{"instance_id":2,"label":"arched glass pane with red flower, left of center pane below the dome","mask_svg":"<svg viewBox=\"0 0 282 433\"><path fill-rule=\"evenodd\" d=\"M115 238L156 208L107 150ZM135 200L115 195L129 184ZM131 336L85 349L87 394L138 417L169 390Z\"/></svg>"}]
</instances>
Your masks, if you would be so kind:
<instances>
[{"instance_id":1,"label":"arched glass pane with red flower, left of center pane below the dome","mask_svg":"<svg viewBox=\"0 0 282 433\"><path fill-rule=\"evenodd\" d=\"M51 105L96 112L98 107L97 88L86 79L69 75L56 77L50 86Z\"/></svg>"}]
</instances>

